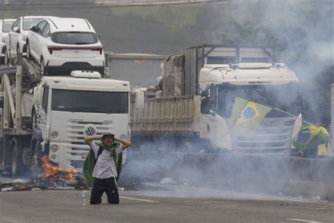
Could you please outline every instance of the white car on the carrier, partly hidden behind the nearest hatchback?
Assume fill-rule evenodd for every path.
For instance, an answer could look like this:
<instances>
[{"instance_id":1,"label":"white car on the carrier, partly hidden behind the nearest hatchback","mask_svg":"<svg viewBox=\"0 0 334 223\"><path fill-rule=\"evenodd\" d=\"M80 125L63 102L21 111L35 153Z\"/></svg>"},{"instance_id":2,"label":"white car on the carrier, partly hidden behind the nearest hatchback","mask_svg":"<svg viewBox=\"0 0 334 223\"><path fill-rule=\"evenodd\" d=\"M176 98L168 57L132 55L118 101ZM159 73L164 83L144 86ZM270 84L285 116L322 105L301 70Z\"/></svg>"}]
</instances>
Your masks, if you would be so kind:
<instances>
[{"instance_id":1,"label":"white car on the carrier, partly hidden behind the nearest hatchback","mask_svg":"<svg viewBox=\"0 0 334 223\"><path fill-rule=\"evenodd\" d=\"M18 52L25 54L25 40L27 39L28 31L33 25L36 25L40 20L47 17L21 16L16 19L5 42L5 64L8 64L12 59L16 59Z\"/></svg>"}]
</instances>

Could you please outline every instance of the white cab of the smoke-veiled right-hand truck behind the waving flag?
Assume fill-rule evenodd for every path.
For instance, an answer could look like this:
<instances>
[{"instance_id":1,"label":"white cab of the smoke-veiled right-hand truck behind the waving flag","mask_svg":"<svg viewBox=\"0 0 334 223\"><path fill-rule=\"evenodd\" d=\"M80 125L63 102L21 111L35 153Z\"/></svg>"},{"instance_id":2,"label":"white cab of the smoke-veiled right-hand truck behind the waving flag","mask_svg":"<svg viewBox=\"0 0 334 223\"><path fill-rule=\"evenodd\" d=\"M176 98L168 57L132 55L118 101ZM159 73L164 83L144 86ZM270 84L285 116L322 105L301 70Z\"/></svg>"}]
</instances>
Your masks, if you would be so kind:
<instances>
[{"instance_id":1,"label":"white cab of the smoke-veiled right-hand truck behind the waving flag","mask_svg":"<svg viewBox=\"0 0 334 223\"><path fill-rule=\"evenodd\" d=\"M291 148L291 137L302 124L298 100L299 79L285 64L238 63L206 64L199 72L200 91L207 91L208 114L202 113L206 128L201 134L210 138L212 147L237 152L283 152ZM270 107L255 135L228 129L235 97L243 97ZM204 97L205 98L205 97ZM202 99L203 102L204 99ZM203 106L203 103L202 103ZM208 111L208 110L207 110Z\"/></svg>"}]
</instances>

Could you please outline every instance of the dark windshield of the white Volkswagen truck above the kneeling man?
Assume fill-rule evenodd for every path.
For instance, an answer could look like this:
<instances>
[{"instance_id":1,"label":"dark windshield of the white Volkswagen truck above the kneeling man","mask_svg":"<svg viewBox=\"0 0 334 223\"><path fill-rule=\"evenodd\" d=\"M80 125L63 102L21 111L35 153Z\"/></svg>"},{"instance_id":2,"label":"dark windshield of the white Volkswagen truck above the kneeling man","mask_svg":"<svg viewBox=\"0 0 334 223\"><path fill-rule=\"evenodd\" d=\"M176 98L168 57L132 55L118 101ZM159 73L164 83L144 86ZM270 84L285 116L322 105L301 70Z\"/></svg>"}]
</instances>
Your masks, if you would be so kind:
<instances>
[{"instance_id":1,"label":"dark windshield of the white Volkswagen truck above the kneeling man","mask_svg":"<svg viewBox=\"0 0 334 223\"><path fill-rule=\"evenodd\" d=\"M54 89L52 90L51 109L53 111L127 114L128 92Z\"/></svg>"}]
</instances>

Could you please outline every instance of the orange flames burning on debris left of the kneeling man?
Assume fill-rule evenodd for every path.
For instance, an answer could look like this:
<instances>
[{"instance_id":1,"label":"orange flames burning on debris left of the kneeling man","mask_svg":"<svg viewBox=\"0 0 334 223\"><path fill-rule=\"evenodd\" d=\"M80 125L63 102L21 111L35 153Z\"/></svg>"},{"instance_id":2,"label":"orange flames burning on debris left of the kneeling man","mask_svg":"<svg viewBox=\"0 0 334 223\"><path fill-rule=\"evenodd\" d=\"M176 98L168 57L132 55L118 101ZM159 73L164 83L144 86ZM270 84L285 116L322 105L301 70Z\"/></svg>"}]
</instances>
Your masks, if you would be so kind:
<instances>
[{"instance_id":1,"label":"orange flames burning on debris left of the kneeling man","mask_svg":"<svg viewBox=\"0 0 334 223\"><path fill-rule=\"evenodd\" d=\"M77 179L78 170L72 169L70 167L67 169L56 167L49 162L48 155L42 156L41 161L42 161L42 170L45 177L58 178L59 176L57 175L62 175L61 177L69 179L70 181L75 181Z\"/></svg>"}]
</instances>

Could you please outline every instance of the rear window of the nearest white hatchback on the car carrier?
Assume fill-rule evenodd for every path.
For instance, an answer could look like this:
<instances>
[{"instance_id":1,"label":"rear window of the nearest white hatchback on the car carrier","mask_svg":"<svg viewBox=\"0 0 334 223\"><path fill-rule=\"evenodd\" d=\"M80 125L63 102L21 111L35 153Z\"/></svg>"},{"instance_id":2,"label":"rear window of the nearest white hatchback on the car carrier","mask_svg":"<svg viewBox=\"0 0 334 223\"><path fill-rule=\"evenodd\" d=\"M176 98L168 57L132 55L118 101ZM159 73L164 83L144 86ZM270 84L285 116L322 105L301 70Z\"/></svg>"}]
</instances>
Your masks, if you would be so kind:
<instances>
[{"instance_id":1,"label":"rear window of the nearest white hatchback on the car carrier","mask_svg":"<svg viewBox=\"0 0 334 223\"><path fill-rule=\"evenodd\" d=\"M98 38L92 32L55 32L51 40L61 44L94 44L97 43Z\"/></svg>"}]
</instances>

